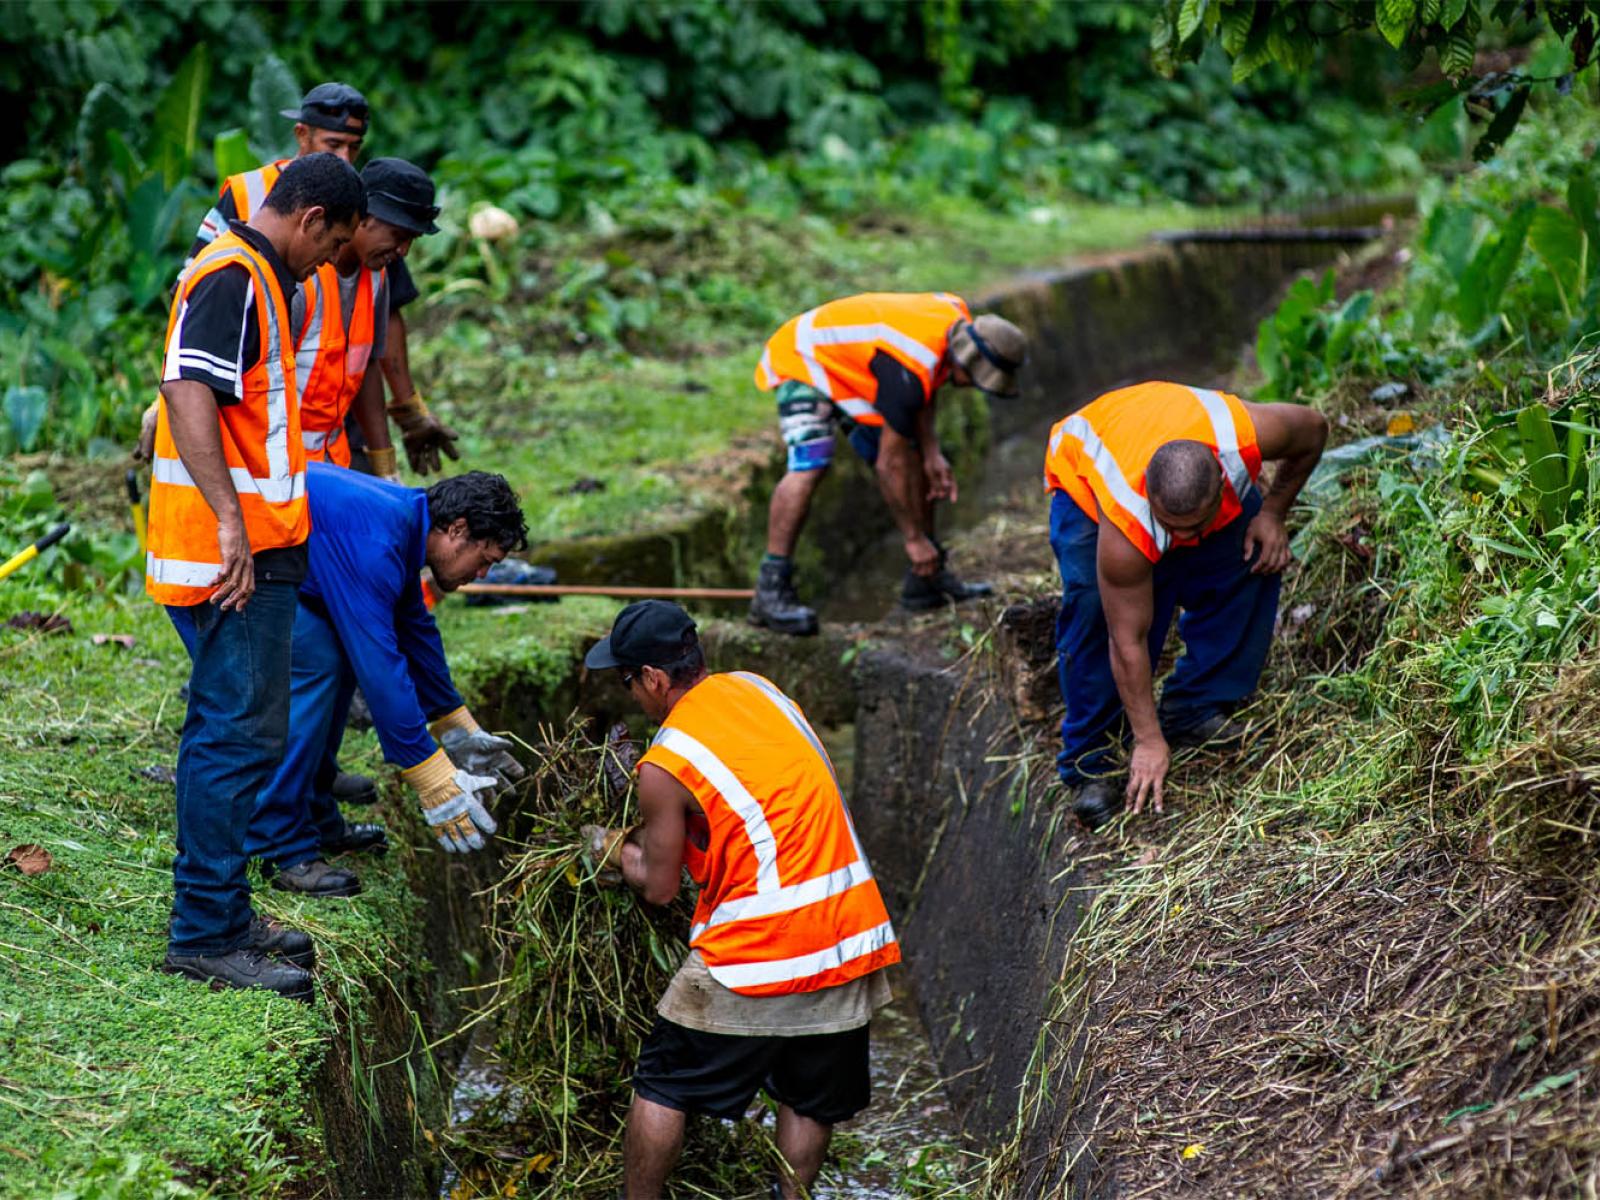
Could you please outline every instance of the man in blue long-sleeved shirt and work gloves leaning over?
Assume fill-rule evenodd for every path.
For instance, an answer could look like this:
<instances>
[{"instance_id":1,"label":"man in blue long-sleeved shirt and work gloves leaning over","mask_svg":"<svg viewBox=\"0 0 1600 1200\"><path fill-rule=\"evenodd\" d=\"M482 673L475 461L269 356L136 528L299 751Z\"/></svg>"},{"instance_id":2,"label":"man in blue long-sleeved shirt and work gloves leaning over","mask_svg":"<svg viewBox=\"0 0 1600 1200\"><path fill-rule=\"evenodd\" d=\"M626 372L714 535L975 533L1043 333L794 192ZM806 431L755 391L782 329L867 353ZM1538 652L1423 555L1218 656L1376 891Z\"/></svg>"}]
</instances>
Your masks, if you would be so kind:
<instances>
[{"instance_id":1,"label":"man in blue long-sleeved shirt and work gloves leaning over","mask_svg":"<svg viewBox=\"0 0 1600 1200\"><path fill-rule=\"evenodd\" d=\"M422 491L312 462L306 494L312 534L294 616L290 738L245 850L269 866L274 886L352 896L360 880L323 854L384 848L382 829L346 826L315 784L357 685L384 758L418 790L445 850L480 850L494 832L485 802L523 773L510 742L480 730L461 702L421 571L453 592L526 546L528 526L510 485L482 470Z\"/></svg>"}]
</instances>

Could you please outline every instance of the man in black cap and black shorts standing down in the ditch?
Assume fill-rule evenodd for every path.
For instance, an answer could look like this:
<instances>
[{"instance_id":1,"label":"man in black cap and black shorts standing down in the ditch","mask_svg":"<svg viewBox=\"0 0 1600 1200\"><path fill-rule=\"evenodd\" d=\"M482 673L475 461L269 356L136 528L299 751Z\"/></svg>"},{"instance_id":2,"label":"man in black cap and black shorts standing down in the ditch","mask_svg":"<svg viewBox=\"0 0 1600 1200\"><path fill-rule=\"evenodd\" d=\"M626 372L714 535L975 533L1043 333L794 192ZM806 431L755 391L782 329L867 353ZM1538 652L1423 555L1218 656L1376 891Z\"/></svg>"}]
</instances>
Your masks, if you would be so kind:
<instances>
[{"instance_id":1,"label":"man in black cap and black shorts standing down in the ditch","mask_svg":"<svg viewBox=\"0 0 1600 1200\"><path fill-rule=\"evenodd\" d=\"M832 763L770 680L706 672L677 605L629 605L584 662L661 723L640 824L586 830L597 872L651 904L685 867L699 885L690 954L638 1051L626 1195L664 1194L686 1114L736 1120L757 1090L778 1102L779 1189L810 1195L834 1125L870 1101L867 1024L901 957Z\"/></svg>"}]
</instances>

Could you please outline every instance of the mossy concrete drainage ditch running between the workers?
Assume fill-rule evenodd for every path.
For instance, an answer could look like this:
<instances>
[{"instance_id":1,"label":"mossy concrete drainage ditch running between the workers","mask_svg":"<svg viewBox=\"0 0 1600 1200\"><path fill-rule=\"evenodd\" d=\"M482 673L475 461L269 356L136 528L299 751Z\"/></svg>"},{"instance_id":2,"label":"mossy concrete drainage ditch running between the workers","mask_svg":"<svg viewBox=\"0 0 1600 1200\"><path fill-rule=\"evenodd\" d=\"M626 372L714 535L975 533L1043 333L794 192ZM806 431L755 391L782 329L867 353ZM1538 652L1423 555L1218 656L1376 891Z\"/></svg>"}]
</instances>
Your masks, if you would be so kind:
<instances>
[{"instance_id":1,"label":"mossy concrete drainage ditch running between the workers","mask_svg":"<svg viewBox=\"0 0 1600 1200\"><path fill-rule=\"evenodd\" d=\"M1037 472L1051 421L1122 381L1170 371L1216 376L1283 280L1339 253L1341 245L1328 238L1160 242L1038 272L979 298L974 307L998 310L1030 333L1034 354L1022 398L974 414L984 427L971 442L982 453L958 462L963 488L968 494L976 490L979 499L968 502L968 523L1006 486ZM776 462L757 466L738 504L680 530L538 547L534 557L560 562L570 578L595 581L608 578L610 565L626 562L635 581L643 566L645 582L742 582L776 475ZM856 586L824 606L826 618L882 618L901 571L898 547L883 541L886 533L867 472L858 464L835 470L808 533L808 542L819 547L810 573L854 576ZM896 622L830 624L821 638L795 642L723 621L707 622L706 637L714 669L771 675L819 726L832 730L835 746L854 747L848 755L854 765L851 803L901 930L904 970L917 997L915 1016L898 1018L883 1061L893 1058L907 1069L918 1059L934 1064L954 1109L954 1118L939 1114L933 1098L925 1104L933 1109L928 1122L869 1123L862 1136L915 1141L947 1138L958 1126L984 1146L1018 1133L1019 1088L1046 1038L1046 994L1090 896L1078 867L1082 846L1062 829L1062 814L1027 802L1045 781L1019 771L1016 658L1013 666L978 656L952 666L914 629ZM1048 643L1032 653L1048 658ZM1022 666L1024 675L1034 675L1035 691L1048 690L1048 664ZM1027 686L1024 678L1022 690ZM557 690L560 714L530 712L515 688L491 685L488 691L491 699L480 715L498 728L526 733L539 718L563 715L573 699L597 720L626 707L608 682L587 678L576 661ZM429 957L440 970L427 994L411 997L411 1003L429 1037L438 1038L458 1016L451 990L472 982L462 963L483 949L486 914L467 878L434 878L440 870L461 872L461 866L435 869L424 856L414 862L426 874L414 885ZM472 880L485 882L493 866L475 866ZM338 1162L330 1176L339 1194L429 1190L437 1187L438 1163L416 1126L438 1128L448 1098L430 1088L397 1090L395 1080L405 1078L397 1072L416 1077L426 1070L419 1030L378 1016L382 1045L371 1058L389 1066L370 1085L378 1102L362 1115L363 1134L347 1094L341 1094L349 1086L349 1070L341 1067L347 1056L334 1054L323 1072L326 1149ZM451 1050L459 1054L464 1046L440 1046L438 1053ZM469 1067L472 1085L483 1086L482 1072ZM1022 1170L1008 1186L1018 1195L1054 1194L1070 1184L1062 1162L1046 1147L1069 1147L1078 1168L1091 1158L1093 1147L1072 1144L1072 1117L1082 1098L1067 1074L1054 1080L1053 1112L1035 1114L1030 1125L1038 1133L1021 1141ZM458 1093L458 1104L461 1099ZM907 1147L883 1149L901 1157ZM856 1186L867 1190L840 1194L874 1194L870 1179Z\"/></svg>"}]
</instances>

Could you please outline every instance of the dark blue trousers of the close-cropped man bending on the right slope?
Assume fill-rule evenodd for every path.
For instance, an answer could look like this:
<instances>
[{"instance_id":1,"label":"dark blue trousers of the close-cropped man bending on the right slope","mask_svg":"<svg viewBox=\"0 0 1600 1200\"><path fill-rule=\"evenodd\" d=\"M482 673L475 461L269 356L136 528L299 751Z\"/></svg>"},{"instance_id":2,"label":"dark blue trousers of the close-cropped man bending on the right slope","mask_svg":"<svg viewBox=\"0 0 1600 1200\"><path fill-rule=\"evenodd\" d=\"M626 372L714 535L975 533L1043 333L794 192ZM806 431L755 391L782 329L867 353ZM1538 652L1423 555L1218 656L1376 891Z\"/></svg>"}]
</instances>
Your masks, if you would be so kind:
<instances>
[{"instance_id":1,"label":"dark blue trousers of the close-cropped man bending on the right slope","mask_svg":"<svg viewBox=\"0 0 1600 1200\"><path fill-rule=\"evenodd\" d=\"M1258 512L1261 493L1251 490L1240 517L1197 546L1174 546L1155 565L1152 669L1166 643L1173 613L1182 608L1178 634L1184 653L1162 688L1160 718L1168 736L1230 712L1261 682L1283 581L1277 574L1251 574L1243 560L1245 528ZM1098 546L1094 518L1066 493L1053 493L1050 547L1061 568L1056 651L1061 698L1067 702L1056 770L1069 787L1112 774L1126 738L1101 608Z\"/></svg>"}]
</instances>

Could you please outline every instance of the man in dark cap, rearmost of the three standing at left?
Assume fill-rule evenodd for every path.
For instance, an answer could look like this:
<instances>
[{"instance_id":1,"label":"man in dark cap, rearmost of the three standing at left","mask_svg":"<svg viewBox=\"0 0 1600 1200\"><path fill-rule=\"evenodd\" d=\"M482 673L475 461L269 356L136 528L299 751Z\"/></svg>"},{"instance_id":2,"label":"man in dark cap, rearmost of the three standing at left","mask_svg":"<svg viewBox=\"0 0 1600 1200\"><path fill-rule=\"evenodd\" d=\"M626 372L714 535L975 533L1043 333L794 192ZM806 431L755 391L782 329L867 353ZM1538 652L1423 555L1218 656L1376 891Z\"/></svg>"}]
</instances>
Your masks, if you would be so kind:
<instances>
[{"instance_id":1,"label":"man in dark cap, rearmost of the three standing at left","mask_svg":"<svg viewBox=\"0 0 1600 1200\"><path fill-rule=\"evenodd\" d=\"M366 98L349 83L318 83L306 93L299 109L283 109L282 115L294 122L296 157L326 150L350 165L362 152L371 118ZM291 160L278 158L254 171L229 176L222 184L216 206L200 222L189 256L194 258L211 238L227 229L230 219L248 221L251 211L272 190L272 184L288 162ZM432 206L432 197L427 203ZM437 210L434 211L437 213ZM429 413L421 392L411 381L406 326L400 310L416 298L416 283L413 283L405 261L394 262L389 269L389 312L384 342L378 357L382 374L389 381L389 390L395 397L389 414L400 426L411 469L426 475L440 469L440 453L453 459L461 456L456 451L456 432ZM373 450L376 453L368 451L366 454L371 472L397 478L398 464L389 438L386 437Z\"/></svg>"}]
</instances>

